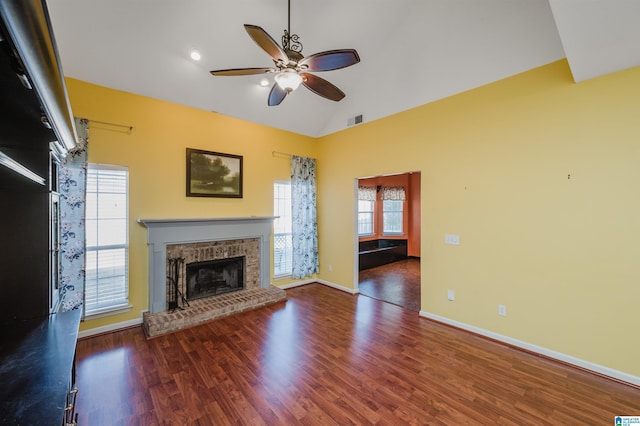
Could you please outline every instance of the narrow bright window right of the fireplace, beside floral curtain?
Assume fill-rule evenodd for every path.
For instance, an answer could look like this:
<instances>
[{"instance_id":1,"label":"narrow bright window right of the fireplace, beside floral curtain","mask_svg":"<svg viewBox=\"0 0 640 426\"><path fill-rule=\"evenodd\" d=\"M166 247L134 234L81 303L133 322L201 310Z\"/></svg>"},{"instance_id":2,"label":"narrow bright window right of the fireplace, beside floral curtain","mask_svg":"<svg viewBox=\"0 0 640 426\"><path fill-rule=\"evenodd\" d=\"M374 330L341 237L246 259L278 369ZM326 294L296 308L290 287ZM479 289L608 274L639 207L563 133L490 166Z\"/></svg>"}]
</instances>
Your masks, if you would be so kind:
<instances>
[{"instance_id":1,"label":"narrow bright window right of the fireplace, beside floral curtain","mask_svg":"<svg viewBox=\"0 0 640 426\"><path fill-rule=\"evenodd\" d=\"M291 275L293 241L291 239L291 182L273 184L273 275Z\"/></svg>"}]
</instances>

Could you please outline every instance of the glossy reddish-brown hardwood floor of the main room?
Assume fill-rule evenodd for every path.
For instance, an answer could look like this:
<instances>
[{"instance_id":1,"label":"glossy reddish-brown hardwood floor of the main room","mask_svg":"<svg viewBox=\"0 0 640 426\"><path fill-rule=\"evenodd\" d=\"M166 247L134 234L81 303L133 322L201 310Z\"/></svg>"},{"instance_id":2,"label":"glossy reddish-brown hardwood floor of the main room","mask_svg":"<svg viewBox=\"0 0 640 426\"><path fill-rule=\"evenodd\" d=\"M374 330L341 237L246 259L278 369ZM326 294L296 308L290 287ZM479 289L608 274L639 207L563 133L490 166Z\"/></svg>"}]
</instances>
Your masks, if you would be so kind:
<instances>
[{"instance_id":1,"label":"glossy reddish-brown hardwood floor of the main room","mask_svg":"<svg viewBox=\"0 0 640 426\"><path fill-rule=\"evenodd\" d=\"M310 284L145 340L78 343L79 424L610 425L640 390Z\"/></svg>"}]
</instances>

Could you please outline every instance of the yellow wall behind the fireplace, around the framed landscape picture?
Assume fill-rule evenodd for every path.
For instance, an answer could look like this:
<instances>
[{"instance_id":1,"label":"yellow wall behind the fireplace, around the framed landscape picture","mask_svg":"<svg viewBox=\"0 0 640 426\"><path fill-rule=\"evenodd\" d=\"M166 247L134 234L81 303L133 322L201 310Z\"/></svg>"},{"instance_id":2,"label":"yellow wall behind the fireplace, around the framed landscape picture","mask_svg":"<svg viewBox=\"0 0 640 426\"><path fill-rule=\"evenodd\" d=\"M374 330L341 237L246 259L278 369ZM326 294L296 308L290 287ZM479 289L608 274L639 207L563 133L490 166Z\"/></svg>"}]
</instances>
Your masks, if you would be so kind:
<instances>
[{"instance_id":1,"label":"yellow wall behind the fireplace, around the framed landscape picture","mask_svg":"<svg viewBox=\"0 0 640 426\"><path fill-rule=\"evenodd\" d=\"M74 79L67 80L74 115L90 122L89 161L129 167L130 312L86 321L81 330L141 317L148 308L147 230L140 218L273 215L273 182L289 179L289 159L316 157L317 142L276 130ZM242 155L242 199L186 197L186 148ZM273 268L271 268L273 270ZM278 281L286 284L290 280Z\"/></svg>"}]
</instances>

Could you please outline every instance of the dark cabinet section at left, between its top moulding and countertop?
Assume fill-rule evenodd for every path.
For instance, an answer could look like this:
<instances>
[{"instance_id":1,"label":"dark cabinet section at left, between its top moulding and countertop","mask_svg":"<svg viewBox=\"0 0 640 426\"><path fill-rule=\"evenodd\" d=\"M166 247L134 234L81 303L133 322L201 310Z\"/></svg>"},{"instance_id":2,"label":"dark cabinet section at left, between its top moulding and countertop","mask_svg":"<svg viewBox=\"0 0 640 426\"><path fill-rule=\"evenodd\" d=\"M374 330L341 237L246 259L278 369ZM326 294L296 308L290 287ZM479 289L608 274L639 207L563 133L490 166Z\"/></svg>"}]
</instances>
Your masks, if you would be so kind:
<instances>
[{"instance_id":1,"label":"dark cabinet section at left, between its top moulding and countertop","mask_svg":"<svg viewBox=\"0 0 640 426\"><path fill-rule=\"evenodd\" d=\"M47 108L38 93L44 91L17 53L24 41L11 38L19 34L12 31L18 6L0 0L0 322L43 318L54 307L50 192L57 179L51 179L50 144L56 133L43 125Z\"/></svg>"}]
</instances>

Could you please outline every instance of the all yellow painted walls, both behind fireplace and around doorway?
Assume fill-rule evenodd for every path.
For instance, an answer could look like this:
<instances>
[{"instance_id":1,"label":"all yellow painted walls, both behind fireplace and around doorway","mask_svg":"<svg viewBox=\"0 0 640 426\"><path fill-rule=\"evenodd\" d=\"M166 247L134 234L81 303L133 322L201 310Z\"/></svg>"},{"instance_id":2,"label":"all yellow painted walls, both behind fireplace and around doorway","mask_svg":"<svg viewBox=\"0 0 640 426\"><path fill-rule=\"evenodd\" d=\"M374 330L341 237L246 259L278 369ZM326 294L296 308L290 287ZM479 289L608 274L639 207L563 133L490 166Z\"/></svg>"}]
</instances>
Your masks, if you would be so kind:
<instances>
[{"instance_id":1,"label":"all yellow painted walls, both behind fireplace and around doorway","mask_svg":"<svg viewBox=\"0 0 640 426\"><path fill-rule=\"evenodd\" d=\"M130 168L134 308L83 329L146 309L136 219L270 215L272 182L289 176L277 150L318 158L321 279L355 286L354 179L421 171L423 311L640 376L639 68L575 84L559 61L317 141L76 80L68 88L76 116L135 126L92 126L89 154ZM186 147L244 155L244 198L186 198ZM447 233L461 244L445 245Z\"/></svg>"}]
</instances>

